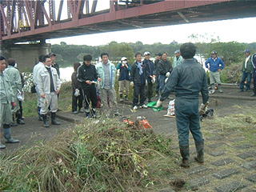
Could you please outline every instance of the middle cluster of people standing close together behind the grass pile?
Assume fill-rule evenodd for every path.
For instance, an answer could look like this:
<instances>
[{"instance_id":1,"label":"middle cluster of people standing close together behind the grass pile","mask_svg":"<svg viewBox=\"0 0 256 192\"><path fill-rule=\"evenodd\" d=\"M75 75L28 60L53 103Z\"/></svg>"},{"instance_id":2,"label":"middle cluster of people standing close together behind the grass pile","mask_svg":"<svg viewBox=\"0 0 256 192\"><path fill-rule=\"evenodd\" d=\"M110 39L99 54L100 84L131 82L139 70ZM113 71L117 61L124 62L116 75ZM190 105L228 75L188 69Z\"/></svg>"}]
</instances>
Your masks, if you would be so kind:
<instances>
[{"instance_id":1,"label":"middle cluster of people standing close together behind the grass pile","mask_svg":"<svg viewBox=\"0 0 256 192\"><path fill-rule=\"evenodd\" d=\"M174 66L182 63L180 51L175 51ZM87 54L83 58L82 65L79 62L74 63L74 73L71 76L73 97L73 114L83 113L82 107L85 107L86 118L95 118L96 108L102 106L104 114L109 114L113 110L114 115L119 115L117 108L117 94L114 89L116 76L118 76L118 94L120 101L128 101L130 86L134 88L133 110L147 108L145 102L152 102L154 93L154 83L156 83L156 96L162 93L173 66L167 60L167 54L158 54L158 58L152 62L150 52L146 51L142 61L142 54L135 54L133 65L122 57L117 66L109 60L109 54L102 53L101 61L96 66L91 64L92 56ZM83 105L82 102L85 102ZM101 104L98 104L101 102ZM91 103L91 109L90 109Z\"/></svg>"}]
</instances>

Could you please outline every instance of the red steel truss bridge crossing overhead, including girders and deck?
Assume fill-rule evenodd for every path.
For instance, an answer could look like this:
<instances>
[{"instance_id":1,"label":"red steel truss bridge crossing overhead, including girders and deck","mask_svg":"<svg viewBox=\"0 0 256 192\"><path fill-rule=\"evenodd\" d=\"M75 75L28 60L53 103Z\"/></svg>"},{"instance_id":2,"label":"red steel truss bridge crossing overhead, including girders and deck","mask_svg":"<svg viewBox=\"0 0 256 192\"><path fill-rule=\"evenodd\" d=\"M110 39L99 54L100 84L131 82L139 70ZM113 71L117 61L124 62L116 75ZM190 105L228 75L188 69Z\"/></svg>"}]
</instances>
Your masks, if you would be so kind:
<instances>
[{"instance_id":1,"label":"red steel truss bridge crossing overhead, including girders and deck","mask_svg":"<svg viewBox=\"0 0 256 192\"><path fill-rule=\"evenodd\" d=\"M104 0L106 2L105 8L98 0L0 0L0 42L44 41L81 34L256 17L256 2L246 0Z\"/></svg>"}]
</instances>

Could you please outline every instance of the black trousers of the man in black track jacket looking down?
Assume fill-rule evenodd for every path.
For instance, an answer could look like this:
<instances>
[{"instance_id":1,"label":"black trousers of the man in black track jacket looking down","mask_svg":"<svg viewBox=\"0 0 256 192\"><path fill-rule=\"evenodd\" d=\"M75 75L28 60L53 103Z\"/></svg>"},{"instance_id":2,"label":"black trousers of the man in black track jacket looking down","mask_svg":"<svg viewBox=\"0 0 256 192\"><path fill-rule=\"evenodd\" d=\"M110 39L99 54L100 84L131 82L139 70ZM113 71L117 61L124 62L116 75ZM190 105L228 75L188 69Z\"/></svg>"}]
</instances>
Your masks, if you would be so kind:
<instances>
[{"instance_id":1,"label":"black trousers of the man in black track jacket looking down","mask_svg":"<svg viewBox=\"0 0 256 192\"><path fill-rule=\"evenodd\" d=\"M90 102L91 102L91 106L93 107L93 109L96 109L97 102L98 102L97 94L96 94L96 87L90 86L90 88L83 89L82 92L83 92L84 99L85 99L86 112L88 112L90 109Z\"/></svg>"}]
</instances>

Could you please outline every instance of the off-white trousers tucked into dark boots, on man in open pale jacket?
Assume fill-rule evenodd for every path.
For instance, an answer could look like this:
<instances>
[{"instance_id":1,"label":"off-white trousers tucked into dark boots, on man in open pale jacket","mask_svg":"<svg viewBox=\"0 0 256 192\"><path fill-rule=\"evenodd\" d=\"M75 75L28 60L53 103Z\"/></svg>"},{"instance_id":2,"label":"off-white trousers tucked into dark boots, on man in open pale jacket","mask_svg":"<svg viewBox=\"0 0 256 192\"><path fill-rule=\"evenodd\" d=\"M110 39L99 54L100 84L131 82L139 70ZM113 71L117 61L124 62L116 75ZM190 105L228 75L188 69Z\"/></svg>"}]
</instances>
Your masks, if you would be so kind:
<instances>
[{"instance_id":1,"label":"off-white trousers tucked into dark boots, on man in open pale jacket","mask_svg":"<svg viewBox=\"0 0 256 192\"><path fill-rule=\"evenodd\" d=\"M58 110L58 95L55 92L50 92L46 94L46 98L40 98L41 111L40 114L47 114L48 108L50 106L50 112L56 113Z\"/></svg>"}]
</instances>

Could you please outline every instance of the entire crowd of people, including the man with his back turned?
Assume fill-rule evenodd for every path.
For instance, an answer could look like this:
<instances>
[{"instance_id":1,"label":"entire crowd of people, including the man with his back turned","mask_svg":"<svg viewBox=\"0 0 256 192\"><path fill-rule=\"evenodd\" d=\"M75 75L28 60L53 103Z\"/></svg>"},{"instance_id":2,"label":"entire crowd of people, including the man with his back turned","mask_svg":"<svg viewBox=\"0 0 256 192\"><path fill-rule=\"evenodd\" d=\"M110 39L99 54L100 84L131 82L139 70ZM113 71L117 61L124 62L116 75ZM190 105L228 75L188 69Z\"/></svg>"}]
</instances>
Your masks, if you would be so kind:
<instances>
[{"instance_id":1,"label":"entire crowd of people, including the man with his back turned","mask_svg":"<svg viewBox=\"0 0 256 192\"><path fill-rule=\"evenodd\" d=\"M175 93L175 116L178 129L178 142L182 155L182 167L190 167L190 146L189 132L193 135L197 156L195 160L199 163L204 162L204 139L202 137L200 118L199 118L199 93L202 94L201 110L206 110L209 94L214 94L215 85L222 93L222 82L220 81L220 71L225 64L221 58L217 57L217 52L212 52L212 57L207 59L205 66L210 70L210 86L206 71L194 58L196 46L193 43L184 43L180 50L175 51L173 65L167 59L167 54L157 54L157 59L150 60L150 52L135 54L135 62L130 66L127 58L122 57L118 66L109 60L109 54L102 53L101 61L93 65L92 56L87 54L83 57L82 64L74 63L74 73L71 76L73 87L72 111L74 114L86 113L86 118L96 118L96 108L98 101L102 103L102 114L106 116L111 112L120 115L117 107L117 94L114 89L115 79L118 75L120 101L129 100L129 88L134 89L133 110L147 108L145 102L151 102L154 89L156 96L159 96L157 105L162 106L162 102ZM250 90L250 75L254 74L254 96L256 82L256 54L250 57L250 50L245 50L246 59L242 65L244 81L248 78L246 86ZM38 115L39 120L43 121L43 126L49 127L47 112L50 110L51 122L54 125L60 123L56 121L56 111L58 110L58 94L61 87L59 79L58 64L55 61L55 54L41 55L39 62L34 66L33 82L38 94ZM7 60L9 66L6 69L6 59L0 57L0 78L1 78L1 122L3 122L4 137L6 143L15 143L18 140L10 136L10 124L13 122L12 114L21 120L22 115L18 112L17 94L22 92L21 77L17 69L14 68L15 62ZM5 70L6 69L6 70ZM5 72L3 73L3 71ZM118 72L117 72L118 71ZM15 74L15 75L14 75ZM11 76L11 77L10 77ZM15 79L13 78L15 77ZM16 79L17 78L17 79ZM154 86L155 83L155 86ZM249 84L249 85L248 85ZM155 88L154 88L155 87ZM83 102L84 101L84 105ZM91 107L90 107L91 106ZM83 107L85 110L83 110ZM1 143L0 143L1 144ZM1 144L0 148L5 146Z\"/></svg>"}]
</instances>

